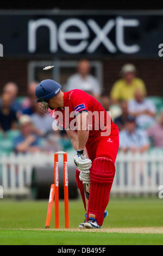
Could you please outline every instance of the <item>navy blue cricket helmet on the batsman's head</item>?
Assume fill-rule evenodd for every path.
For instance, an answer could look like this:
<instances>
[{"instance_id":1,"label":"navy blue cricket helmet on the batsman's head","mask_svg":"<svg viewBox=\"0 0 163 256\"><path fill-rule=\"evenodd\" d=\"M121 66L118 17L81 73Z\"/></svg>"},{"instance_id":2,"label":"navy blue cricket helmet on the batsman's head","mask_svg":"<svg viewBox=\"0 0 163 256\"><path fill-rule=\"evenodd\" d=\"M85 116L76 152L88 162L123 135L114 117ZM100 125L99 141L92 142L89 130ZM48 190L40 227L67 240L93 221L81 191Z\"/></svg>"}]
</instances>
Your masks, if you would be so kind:
<instances>
[{"instance_id":1,"label":"navy blue cricket helmet on the batsman's head","mask_svg":"<svg viewBox=\"0 0 163 256\"><path fill-rule=\"evenodd\" d=\"M37 97L36 103L41 101L48 101L56 96L61 90L61 85L54 80L46 79L41 81L35 90Z\"/></svg>"}]
</instances>

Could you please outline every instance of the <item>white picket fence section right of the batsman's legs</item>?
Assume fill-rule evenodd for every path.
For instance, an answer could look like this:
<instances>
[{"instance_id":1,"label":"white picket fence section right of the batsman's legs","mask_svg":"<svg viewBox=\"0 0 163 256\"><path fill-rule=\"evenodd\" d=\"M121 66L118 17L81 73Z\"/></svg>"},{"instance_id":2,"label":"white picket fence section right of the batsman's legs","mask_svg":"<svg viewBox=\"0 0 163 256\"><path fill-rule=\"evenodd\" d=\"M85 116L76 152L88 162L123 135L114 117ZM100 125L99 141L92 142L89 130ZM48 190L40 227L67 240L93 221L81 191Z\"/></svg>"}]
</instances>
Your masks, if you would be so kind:
<instances>
[{"instance_id":1,"label":"white picket fence section right of the batsman's legs","mask_svg":"<svg viewBox=\"0 0 163 256\"><path fill-rule=\"evenodd\" d=\"M118 154L112 193L158 193L163 185L163 153Z\"/></svg>"}]
</instances>

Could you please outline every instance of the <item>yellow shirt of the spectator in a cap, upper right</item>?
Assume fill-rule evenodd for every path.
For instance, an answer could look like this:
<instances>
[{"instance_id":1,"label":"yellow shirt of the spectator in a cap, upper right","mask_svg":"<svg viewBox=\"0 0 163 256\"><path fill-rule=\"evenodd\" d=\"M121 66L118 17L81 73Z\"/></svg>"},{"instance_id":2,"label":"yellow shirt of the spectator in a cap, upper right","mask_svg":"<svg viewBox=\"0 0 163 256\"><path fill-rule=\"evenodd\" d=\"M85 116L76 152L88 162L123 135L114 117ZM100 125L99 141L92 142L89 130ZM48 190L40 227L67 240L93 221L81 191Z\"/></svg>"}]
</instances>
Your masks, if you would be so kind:
<instances>
[{"instance_id":1,"label":"yellow shirt of the spectator in a cap, upper right","mask_svg":"<svg viewBox=\"0 0 163 256\"><path fill-rule=\"evenodd\" d=\"M110 93L111 99L116 101L134 99L137 88L146 94L145 83L140 78L133 78L129 84L122 78L114 83Z\"/></svg>"}]
</instances>

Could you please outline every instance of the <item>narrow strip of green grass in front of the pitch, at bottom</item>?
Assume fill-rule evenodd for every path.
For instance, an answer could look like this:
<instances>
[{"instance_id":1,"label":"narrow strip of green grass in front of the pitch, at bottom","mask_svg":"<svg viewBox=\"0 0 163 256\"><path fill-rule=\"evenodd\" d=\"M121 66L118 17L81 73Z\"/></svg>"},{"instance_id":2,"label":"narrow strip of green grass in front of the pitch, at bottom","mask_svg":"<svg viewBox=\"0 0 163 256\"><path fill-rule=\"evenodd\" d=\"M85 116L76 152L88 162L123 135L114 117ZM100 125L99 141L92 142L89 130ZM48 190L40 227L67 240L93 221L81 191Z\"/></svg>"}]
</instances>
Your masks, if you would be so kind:
<instances>
[{"instance_id":1,"label":"narrow strip of green grass in front of the pitch, at bottom","mask_svg":"<svg viewBox=\"0 0 163 256\"><path fill-rule=\"evenodd\" d=\"M1 230L1 245L162 245L163 235Z\"/></svg>"}]
</instances>

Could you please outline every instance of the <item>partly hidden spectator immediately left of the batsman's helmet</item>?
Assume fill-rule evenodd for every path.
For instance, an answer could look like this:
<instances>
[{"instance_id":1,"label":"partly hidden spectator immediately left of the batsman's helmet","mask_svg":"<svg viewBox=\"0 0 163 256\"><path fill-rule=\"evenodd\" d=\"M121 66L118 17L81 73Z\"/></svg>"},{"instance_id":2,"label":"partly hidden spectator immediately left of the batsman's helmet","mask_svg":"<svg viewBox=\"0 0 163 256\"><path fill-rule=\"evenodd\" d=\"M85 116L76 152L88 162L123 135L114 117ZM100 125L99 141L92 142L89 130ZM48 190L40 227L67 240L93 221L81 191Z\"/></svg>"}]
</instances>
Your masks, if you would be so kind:
<instances>
[{"instance_id":1,"label":"partly hidden spectator immediately left of the batsman's helmet","mask_svg":"<svg viewBox=\"0 0 163 256\"><path fill-rule=\"evenodd\" d=\"M31 82L28 84L28 97L23 100L22 108L23 114L32 115L35 112L36 107L36 95L35 89L39 82Z\"/></svg>"}]
</instances>

